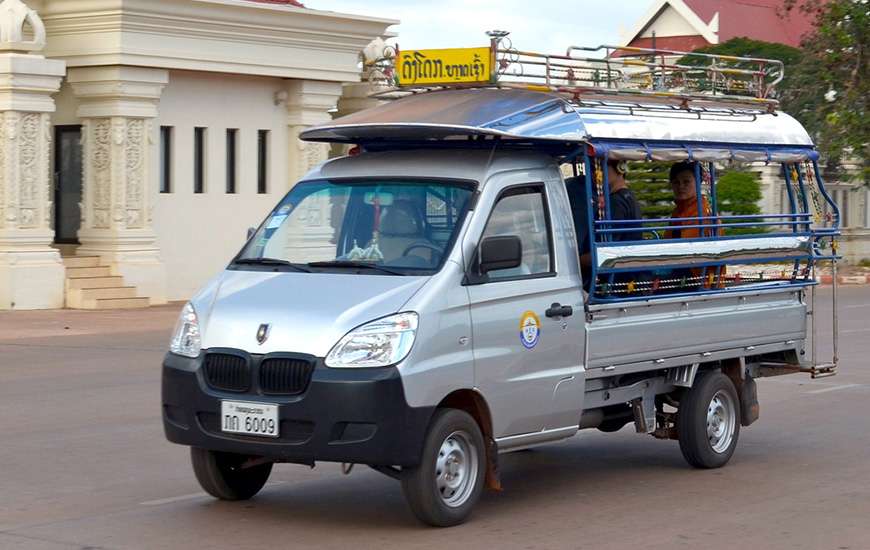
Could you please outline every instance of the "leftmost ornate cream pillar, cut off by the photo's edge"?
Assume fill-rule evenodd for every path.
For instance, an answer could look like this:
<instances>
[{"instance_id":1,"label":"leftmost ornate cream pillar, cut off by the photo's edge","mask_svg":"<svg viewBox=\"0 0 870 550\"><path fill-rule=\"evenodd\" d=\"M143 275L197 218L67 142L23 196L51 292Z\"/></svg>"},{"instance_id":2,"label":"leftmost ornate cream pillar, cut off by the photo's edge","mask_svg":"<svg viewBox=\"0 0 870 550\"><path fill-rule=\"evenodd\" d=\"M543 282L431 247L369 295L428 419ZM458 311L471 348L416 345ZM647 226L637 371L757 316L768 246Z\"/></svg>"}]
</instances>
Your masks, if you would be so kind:
<instances>
[{"instance_id":1,"label":"leftmost ornate cream pillar, cut off by the photo's edge","mask_svg":"<svg viewBox=\"0 0 870 550\"><path fill-rule=\"evenodd\" d=\"M25 40L24 25L33 40ZM0 310L64 303L64 267L51 248L51 94L63 61L45 59L45 27L21 0L0 4Z\"/></svg>"}]
</instances>

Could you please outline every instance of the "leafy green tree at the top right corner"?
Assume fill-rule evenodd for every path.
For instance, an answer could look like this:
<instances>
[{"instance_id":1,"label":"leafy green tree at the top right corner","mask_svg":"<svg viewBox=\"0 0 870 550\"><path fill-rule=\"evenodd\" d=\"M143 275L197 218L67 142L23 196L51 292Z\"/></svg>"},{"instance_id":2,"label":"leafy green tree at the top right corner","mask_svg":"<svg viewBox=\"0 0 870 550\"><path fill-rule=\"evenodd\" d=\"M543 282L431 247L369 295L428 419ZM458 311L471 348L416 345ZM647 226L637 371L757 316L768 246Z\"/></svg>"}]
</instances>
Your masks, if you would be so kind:
<instances>
[{"instance_id":1,"label":"leafy green tree at the top right corner","mask_svg":"<svg viewBox=\"0 0 870 550\"><path fill-rule=\"evenodd\" d=\"M830 162L854 156L870 181L870 2L786 0L815 17L802 42L784 107L815 137Z\"/></svg>"}]
</instances>

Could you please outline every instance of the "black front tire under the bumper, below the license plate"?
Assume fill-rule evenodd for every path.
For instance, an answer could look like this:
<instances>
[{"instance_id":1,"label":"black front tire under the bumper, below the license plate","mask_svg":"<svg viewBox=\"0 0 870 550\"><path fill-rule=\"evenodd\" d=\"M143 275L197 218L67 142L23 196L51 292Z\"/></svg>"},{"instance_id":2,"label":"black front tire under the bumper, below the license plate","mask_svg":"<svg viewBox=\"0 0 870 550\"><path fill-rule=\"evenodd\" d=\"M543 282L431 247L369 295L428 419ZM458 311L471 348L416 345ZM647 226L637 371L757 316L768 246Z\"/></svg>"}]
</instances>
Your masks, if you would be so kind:
<instances>
[{"instance_id":1,"label":"black front tire under the bumper, below the license plate","mask_svg":"<svg viewBox=\"0 0 870 550\"><path fill-rule=\"evenodd\" d=\"M272 473L272 463L241 469L251 457L191 447L193 473L203 490L221 500L248 500L256 495Z\"/></svg>"}]
</instances>

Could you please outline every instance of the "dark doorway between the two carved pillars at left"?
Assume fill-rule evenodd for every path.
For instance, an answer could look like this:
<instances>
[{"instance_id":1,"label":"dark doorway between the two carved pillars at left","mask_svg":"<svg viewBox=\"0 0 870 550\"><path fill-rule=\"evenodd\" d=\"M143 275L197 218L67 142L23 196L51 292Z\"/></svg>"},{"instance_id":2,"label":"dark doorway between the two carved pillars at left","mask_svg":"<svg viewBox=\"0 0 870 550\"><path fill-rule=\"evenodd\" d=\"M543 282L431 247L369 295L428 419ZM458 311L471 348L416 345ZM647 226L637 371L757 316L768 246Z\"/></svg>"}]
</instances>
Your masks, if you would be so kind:
<instances>
[{"instance_id":1,"label":"dark doorway between the two carved pillars at left","mask_svg":"<svg viewBox=\"0 0 870 550\"><path fill-rule=\"evenodd\" d=\"M82 127L54 127L54 242L78 244L82 202Z\"/></svg>"}]
</instances>

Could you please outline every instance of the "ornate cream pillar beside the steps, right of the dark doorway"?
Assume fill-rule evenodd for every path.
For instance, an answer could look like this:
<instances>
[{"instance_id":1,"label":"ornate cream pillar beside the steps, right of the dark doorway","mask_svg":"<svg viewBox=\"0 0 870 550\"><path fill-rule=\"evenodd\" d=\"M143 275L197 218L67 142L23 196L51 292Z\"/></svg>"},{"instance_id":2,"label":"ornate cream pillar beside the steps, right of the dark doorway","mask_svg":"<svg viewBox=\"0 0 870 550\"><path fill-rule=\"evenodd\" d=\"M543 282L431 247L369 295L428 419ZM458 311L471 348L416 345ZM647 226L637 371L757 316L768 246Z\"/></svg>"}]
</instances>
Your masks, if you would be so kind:
<instances>
[{"instance_id":1,"label":"ornate cream pillar beside the steps, right of the dark doorway","mask_svg":"<svg viewBox=\"0 0 870 550\"><path fill-rule=\"evenodd\" d=\"M84 167L80 256L101 256L152 304L166 302L166 268L153 227L158 174L153 120L164 69L70 69L79 100Z\"/></svg>"}]
</instances>

